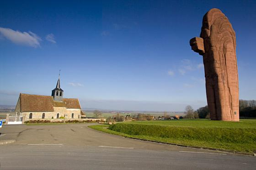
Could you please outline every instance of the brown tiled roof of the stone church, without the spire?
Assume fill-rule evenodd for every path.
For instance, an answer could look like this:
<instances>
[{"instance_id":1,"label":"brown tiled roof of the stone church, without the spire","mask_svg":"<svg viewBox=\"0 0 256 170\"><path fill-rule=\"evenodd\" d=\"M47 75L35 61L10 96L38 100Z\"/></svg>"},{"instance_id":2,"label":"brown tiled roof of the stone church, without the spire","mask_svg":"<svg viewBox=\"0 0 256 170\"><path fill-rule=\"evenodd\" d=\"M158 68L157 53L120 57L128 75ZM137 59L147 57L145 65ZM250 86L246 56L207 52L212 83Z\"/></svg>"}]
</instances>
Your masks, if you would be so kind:
<instances>
[{"instance_id":1,"label":"brown tiled roof of the stone church, without the spire","mask_svg":"<svg viewBox=\"0 0 256 170\"><path fill-rule=\"evenodd\" d=\"M63 101L54 101L52 96L24 93L20 94L20 104L21 112L53 112L53 107L81 109L77 98L63 98Z\"/></svg>"}]
</instances>

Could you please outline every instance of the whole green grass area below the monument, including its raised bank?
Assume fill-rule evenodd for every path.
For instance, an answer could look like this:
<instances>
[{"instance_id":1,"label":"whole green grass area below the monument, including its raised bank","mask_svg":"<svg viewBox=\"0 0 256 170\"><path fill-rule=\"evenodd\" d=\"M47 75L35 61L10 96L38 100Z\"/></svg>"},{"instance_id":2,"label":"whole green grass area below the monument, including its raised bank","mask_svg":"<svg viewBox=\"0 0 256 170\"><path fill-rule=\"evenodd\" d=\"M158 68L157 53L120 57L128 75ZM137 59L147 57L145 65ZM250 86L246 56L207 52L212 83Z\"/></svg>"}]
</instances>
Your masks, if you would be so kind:
<instances>
[{"instance_id":1,"label":"whole green grass area below the monument, including its raised bank","mask_svg":"<svg viewBox=\"0 0 256 170\"><path fill-rule=\"evenodd\" d=\"M196 148L256 153L256 120L134 121L92 125L92 129L128 138L145 139Z\"/></svg>"}]
</instances>

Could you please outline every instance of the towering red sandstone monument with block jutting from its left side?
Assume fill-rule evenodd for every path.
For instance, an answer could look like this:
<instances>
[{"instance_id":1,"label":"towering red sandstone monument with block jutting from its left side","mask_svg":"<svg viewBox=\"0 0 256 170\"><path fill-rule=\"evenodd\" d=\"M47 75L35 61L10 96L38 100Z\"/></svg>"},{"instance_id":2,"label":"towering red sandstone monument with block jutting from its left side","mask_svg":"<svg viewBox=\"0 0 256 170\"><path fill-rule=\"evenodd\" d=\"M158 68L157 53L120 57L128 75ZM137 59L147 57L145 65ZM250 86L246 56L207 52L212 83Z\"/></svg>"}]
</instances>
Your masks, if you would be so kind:
<instances>
[{"instance_id":1,"label":"towering red sandstone monument with block jutting from its left side","mask_svg":"<svg viewBox=\"0 0 256 170\"><path fill-rule=\"evenodd\" d=\"M212 120L239 121L239 88L235 31L229 19L213 8L203 16L200 37L190 40L203 56L207 103Z\"/></svg>"}]
</instances>

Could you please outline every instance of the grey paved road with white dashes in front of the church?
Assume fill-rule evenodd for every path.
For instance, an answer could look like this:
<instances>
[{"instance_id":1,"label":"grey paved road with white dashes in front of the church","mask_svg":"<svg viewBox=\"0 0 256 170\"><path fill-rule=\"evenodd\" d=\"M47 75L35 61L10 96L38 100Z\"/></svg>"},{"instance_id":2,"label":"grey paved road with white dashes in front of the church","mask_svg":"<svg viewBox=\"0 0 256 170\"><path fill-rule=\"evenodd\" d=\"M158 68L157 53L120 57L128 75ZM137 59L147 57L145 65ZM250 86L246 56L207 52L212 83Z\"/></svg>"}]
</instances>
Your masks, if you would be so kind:
<instances>
[{"instance_id":1,"label":"grey paved road with white dashes in front of the church","mask_svg":"<svg viewBox=\"0 0 256 170\"><path fill-rule=\"evenodd\" d=\"M127 139L88 124L0 129L0 170L255 170L256 158Z\"/></svg>"}]
</instances>

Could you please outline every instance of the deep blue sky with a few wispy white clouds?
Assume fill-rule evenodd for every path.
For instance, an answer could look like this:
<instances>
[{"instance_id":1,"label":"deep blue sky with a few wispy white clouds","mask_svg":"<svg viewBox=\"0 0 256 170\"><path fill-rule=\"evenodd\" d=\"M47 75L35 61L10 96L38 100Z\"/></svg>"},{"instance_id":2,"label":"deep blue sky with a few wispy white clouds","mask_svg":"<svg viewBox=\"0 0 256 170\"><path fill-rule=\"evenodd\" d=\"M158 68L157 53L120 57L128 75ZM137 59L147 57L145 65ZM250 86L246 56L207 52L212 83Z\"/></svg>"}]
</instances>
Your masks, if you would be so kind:
<instances>
[{"instance_id":1,"label":"deep blue sky with a few wispy white clouds","mask_svg":"<svg viewBox=\"0 0 256 170\"><path fill-rule=\"evenodd\" d=\"M0 104L50 95L84 108L183 111L207 104L189 40L219 8L237 40L241 99L256 99L256 1L15 1L0 5Z\"/></svg>"}]
</instances>

